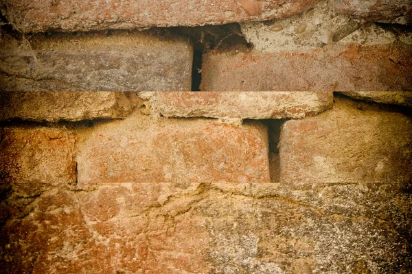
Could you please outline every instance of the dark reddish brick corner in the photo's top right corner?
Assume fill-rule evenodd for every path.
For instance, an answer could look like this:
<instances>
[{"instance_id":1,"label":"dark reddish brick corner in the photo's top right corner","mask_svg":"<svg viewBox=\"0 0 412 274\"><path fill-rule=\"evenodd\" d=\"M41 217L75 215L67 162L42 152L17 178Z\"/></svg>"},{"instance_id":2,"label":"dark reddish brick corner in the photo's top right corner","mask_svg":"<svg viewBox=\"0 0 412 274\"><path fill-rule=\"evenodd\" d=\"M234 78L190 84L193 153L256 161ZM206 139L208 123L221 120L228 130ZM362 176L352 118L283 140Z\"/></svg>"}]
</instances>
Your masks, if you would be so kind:
<instances>
[{"instance_id":1,"label":"dark reddish brick corner in the photo's top right corner","mask_svg":"<svg viewBox=\"0 0 412 274\"><path fill-rule=\"evenodd\" d=\"M412 24L412 3L409 0L334 0L332 5L336 12L368 21Z\"/></svg>"}]
</instances>

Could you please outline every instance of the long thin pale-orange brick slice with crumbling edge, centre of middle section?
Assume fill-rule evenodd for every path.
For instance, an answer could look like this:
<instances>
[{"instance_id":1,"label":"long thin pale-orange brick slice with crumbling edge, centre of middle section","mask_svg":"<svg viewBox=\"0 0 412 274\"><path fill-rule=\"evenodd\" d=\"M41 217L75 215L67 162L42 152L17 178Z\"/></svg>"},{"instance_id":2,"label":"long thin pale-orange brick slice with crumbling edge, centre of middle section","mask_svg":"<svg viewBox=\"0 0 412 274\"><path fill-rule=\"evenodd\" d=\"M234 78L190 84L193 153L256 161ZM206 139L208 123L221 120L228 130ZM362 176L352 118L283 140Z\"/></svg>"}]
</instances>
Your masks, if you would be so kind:
<instances>
[{"instance_id":1,"label":"long thin pale-orange brick slice with crumbling edge, centre of middle section","mask_svg":"<svg viewBox=\"0 0 412 274\"><path fill-rule=\"evenodd\" d=\"M152 108L166 117L302 118L332 107L332 92L156 92Z\"/></svg>"}]
</instances>

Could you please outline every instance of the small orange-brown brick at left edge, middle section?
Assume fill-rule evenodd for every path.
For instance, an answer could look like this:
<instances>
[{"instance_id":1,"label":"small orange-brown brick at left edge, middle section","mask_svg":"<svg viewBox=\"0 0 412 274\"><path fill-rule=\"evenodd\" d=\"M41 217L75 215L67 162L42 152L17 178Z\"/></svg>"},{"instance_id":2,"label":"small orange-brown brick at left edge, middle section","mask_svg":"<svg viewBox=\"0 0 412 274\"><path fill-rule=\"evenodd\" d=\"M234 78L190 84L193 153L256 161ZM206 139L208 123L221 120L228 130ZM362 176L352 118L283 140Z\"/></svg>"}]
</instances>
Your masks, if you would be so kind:
<instances>
[{"instance_id":1,"label":"small orange-brown brick at left edge, middle section","mask_svg":"<svg viewBox=\"0 0 412 274\"><path fill-rule=\"evenodd\" d=\"M74 136L65 128L3 127L0 138L2 187L21 195L53 184L74 184Z\"/></svg>"}]
</instances>

